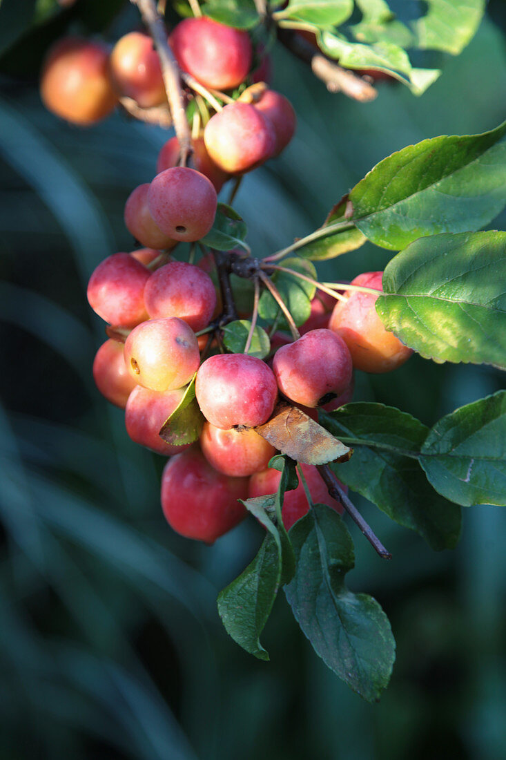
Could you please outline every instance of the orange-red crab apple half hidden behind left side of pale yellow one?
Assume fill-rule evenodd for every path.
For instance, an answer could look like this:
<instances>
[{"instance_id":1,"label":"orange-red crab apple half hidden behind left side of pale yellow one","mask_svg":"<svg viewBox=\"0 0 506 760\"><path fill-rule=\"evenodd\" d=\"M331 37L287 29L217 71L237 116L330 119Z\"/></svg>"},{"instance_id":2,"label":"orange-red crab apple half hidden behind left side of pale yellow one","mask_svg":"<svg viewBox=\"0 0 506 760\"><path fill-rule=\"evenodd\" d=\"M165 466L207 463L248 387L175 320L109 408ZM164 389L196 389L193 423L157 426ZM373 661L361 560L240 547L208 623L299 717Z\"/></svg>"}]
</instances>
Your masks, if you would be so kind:
<instances>
[{"instance_id":1,"label":"orange-red crab apple half hidden behind left side of pale yellow one","mask_svg":"<svg viewBox=\"0 0 506 760\"><path fill-rule=\"evenodd\" d=\"M106 340L93 359L93 380L100 393L115 407L125 409L128 396L135 388L123 357L123 344Z\"/></svg>"}]
</instances>

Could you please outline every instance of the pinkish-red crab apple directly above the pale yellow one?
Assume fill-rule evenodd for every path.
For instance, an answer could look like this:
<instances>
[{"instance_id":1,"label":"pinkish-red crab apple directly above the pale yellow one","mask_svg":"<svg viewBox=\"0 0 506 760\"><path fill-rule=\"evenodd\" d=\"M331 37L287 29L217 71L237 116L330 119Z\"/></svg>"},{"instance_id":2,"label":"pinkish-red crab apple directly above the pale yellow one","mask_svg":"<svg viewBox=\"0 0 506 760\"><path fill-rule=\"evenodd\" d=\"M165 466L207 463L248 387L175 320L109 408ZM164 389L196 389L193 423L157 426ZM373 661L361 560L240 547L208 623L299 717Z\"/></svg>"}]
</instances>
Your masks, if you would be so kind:
<instances>
[{"instance_id":1,"label":"pinkish-red crab apple directly above the pale yellow one","mask_svg":"<svg viewBox=\"0 0 506 760\"><path fill-rule=\"evenodd\" d=\"M157 269L144 288L144 302L151 318L179 317L195 332L209 325L216 300L209 275L183 261L171 261Z\"/></svg>"}]
</instances>

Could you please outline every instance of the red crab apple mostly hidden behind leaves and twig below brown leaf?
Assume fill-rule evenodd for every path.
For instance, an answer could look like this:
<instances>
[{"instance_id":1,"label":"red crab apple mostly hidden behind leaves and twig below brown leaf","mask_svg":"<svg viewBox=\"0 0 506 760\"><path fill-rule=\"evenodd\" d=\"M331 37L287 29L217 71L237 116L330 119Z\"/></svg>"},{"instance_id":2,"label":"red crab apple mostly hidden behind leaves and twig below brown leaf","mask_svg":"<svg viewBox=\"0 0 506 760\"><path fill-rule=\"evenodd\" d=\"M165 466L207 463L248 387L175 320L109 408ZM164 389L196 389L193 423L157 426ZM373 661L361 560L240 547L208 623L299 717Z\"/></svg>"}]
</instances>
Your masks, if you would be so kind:
<instances>
[{"instance_id":1,"label":"red crab apple mostly hidden behind leaves and twig below brown leaf","mask_svg":"<svg viewBox=\"0 0 506 760\"><path fill-rule=\"evenodd\" d=\"M326 504L342 515L343 505L341 502L332 499L327 490L327 486L315 465L300 464L299 466L302 467L302 474L305 477L305 482L308 486L313 503ZM268 467L267 470L263 470L261 473L251 475L248 486L248 499L253 499L255 496L267 496L269 493L276 493L277 488L280 485L280 480L281 473L279 470L274 470L272 467ZM343 483L340 483L340 486L347 492L348 489L346 486L343 486ZM284 495L281 515L283 516L283 524L286 527L286 530L289 530L297 520L304 517L308 510L308 498L305 495L302 480L299 479L299 485L296 489L293 491L286 491Z\"/></svg>"}]
</instances>

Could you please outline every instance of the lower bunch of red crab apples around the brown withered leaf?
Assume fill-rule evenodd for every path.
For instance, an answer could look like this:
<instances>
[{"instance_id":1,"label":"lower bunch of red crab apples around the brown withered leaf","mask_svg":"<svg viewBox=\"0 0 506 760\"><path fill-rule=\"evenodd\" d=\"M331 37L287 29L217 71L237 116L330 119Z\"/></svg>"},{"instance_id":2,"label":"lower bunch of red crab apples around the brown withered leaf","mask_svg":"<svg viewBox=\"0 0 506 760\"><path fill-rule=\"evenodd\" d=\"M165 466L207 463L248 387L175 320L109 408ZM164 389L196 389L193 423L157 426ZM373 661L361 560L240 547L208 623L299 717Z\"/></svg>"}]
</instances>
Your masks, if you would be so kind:
<instances>
[{"instance_id":1,"label":"lower bunch of red crab apples around the brown withered leaf","mask_svg":"<svg viewBox=\"0 0 506 760\"><path fill-rule=\"evenodd\" d=\"M212 543L245 517L241 500L277 490L280 473L268 467L277 451L255 428L267 423L278 399L316 420L318 407L333 410L351 401L353 367L386 372L411 352L384 330L375 312L377 296L349 290L334 307L318 291L301 337L274 333L274 353L265 360L221 353L219 346L203 358L210 340L195 333L210 325L220 301L204 271L209 262L159 266L160 259L153 249L116 253L90 277L90 305L118 337L98 350L93 376L103 395L125 408L131 439L169 458L161 489L169 524L186 537ZM351 285L357 283L381 290L381 272L359 275ZM160 429L193 378L205 420L200 439L167 443ZM314 502L341 510L316 467L302 464L302 473ZM286 528L308 508L302 483L286 492Z\"/></svg>"}]
</instances>

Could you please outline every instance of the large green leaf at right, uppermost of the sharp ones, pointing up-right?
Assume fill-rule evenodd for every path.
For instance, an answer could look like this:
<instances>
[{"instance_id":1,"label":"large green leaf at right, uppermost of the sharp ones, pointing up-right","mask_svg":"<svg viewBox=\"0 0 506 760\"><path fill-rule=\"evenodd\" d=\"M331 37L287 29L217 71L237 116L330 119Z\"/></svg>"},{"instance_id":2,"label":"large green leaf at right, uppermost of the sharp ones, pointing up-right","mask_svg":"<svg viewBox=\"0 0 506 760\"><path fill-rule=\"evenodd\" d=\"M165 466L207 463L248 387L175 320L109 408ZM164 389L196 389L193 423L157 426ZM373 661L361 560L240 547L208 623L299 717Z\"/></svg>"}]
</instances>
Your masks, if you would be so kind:
<instances>
[{"instance_id":1,"label":"large green leaf at right, uppermost of the sharp ones, pointing up-right","mask_svg":"<svg viewBox=\"0 0 506 760\"><path fill-rule=\"evenodd\" d=\"M483 135L423 140L385 158L349 194L369 240L403 249L444 232L477 230L506 203L506 122Z\"/></svg>"}]
</instances>

